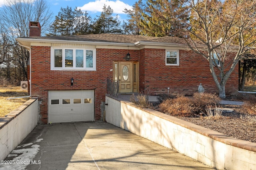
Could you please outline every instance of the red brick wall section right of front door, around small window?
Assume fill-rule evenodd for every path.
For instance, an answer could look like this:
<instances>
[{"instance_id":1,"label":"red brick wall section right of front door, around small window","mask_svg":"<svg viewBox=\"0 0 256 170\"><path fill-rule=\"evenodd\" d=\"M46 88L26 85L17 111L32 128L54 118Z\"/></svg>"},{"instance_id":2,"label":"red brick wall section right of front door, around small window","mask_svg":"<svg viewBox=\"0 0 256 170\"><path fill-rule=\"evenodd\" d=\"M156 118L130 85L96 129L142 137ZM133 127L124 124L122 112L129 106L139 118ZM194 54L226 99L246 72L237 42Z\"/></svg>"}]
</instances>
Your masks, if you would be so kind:
<instances>
[{"instance_id":1,"label":"red brick wall section right of front door, around small window","mask_svg":"<svg viewBox=\"0 0 256 170\"><path fill-rule=\"evenodd\" d=\"M166 66L165 49L143 49L141 53L144 59L140 61L140 90L149 88L151 94L160 94L167 93L169 87L170 93L191 95L198 92L202 83L205 92L218 94L209 63L202 56L180 50L179 66ZM216 72L218 75L217 69ZM226 84L226 93L232 90L238 90L238 65Z\"/></svg>"}]
</instances>

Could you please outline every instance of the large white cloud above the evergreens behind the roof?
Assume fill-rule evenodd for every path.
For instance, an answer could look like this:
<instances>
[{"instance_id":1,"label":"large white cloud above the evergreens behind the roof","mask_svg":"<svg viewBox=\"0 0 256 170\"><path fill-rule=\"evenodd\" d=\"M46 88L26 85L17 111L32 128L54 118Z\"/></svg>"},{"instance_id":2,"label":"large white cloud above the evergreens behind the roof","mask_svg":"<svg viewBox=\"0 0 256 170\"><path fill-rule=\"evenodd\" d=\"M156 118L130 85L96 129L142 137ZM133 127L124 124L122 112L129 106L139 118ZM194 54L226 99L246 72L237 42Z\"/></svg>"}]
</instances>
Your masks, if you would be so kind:
<instances>
[{"instance_id":1,"label":"large white cloud above the evergreens behind the roof","mask_svg":"<svg viewBox=\"0 0 256 170\"><path fill-rule=\"evenodd\" d=\"M106 6L110 6L110 8L113 10L114 14L125 14L123 12L124 8L131 9L132 6L125 4L124 2L120 0L111 1L111 0L96 0L94 2L89 2L87 4L84 4L82 7L78 7L78 9L81 9L82 11L87 12L102 12L102 8L106 4Z\"/></svg>"}]
</instances>

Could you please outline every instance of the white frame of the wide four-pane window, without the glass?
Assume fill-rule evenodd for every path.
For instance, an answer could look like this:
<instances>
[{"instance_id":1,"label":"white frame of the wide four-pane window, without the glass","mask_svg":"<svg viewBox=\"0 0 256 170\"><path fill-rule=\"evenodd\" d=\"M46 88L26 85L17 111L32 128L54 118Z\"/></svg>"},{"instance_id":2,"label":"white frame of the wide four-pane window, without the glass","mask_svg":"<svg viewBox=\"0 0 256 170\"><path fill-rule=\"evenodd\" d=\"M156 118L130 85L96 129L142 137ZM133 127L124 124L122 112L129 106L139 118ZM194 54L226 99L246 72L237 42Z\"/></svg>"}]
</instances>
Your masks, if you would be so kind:
<instances>
[{"instance_id":1,"label":"white frame of the wide four-pane window, without the glass","mask_svg":"<svg viewBox=\"0 0 256 170\"><path fill-rule=\"evenodd\" d=\"M62 50L62 67L54 67L54 50L61 49ZM83 67L75 67L76 66L76 56L73 56L73 67L65 67L65 50L70 49L73 50L73 55L75 54L74 51L76 50L84 50L84 66ZM92 68L86 67L86 50L93 51L93 66ZM96 49L90 48L74 48L74 47L51 47L51 70L96 70Z\"/></svg>"}]
</instances>

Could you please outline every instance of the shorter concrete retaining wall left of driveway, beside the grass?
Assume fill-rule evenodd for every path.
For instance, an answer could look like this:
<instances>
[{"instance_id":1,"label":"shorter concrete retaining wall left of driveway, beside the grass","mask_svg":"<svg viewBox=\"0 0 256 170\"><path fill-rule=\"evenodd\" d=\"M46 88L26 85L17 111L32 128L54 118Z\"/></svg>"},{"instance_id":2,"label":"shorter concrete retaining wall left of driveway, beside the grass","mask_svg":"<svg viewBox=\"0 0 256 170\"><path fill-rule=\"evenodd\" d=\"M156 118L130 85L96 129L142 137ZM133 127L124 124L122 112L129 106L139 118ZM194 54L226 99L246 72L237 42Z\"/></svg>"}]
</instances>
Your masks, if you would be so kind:
<instances>
[{"instance_id":1,"label":"shorter concrete retaining wall left of driveway, beside the grass","mask_svg":"<svg viewBox=\"0 0 256 170\"><path fill-rule=\"evenodd\" d=\"M36 127L38 100L30 99L0 118L0 160L4 160Z\"/></svg>"}]
</instances>

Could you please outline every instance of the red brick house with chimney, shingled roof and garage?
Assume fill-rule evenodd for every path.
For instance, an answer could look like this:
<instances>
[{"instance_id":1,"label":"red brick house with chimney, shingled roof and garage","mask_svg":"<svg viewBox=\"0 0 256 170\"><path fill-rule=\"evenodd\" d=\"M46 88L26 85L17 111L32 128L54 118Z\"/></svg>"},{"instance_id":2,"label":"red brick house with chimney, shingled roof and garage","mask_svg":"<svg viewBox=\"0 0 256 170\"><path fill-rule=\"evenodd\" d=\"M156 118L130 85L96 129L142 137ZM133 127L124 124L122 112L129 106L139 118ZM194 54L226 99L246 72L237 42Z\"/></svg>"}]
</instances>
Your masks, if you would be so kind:
<instances>
[{"instance_id":1,"label":"red brick house with chimney, shingled roof and garage","mask_svg":"<svg viewBox=\"0 0 256 170\"><path fill-rule=\"evenodd\" d=\"M40 101L43 123L100 120L107 79L120 81L120 93L148 88L152 95L191 95L200 83L206 92L218 93L208 61L180 38L114 34L40 37L40 24L30 22L30 37L17 41L30 52L29 91ZM226 92L234 89L238 89L238 67L226 84Z\"/></svg>"}]
</instances>

